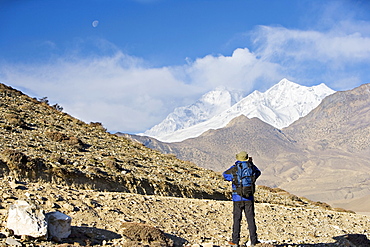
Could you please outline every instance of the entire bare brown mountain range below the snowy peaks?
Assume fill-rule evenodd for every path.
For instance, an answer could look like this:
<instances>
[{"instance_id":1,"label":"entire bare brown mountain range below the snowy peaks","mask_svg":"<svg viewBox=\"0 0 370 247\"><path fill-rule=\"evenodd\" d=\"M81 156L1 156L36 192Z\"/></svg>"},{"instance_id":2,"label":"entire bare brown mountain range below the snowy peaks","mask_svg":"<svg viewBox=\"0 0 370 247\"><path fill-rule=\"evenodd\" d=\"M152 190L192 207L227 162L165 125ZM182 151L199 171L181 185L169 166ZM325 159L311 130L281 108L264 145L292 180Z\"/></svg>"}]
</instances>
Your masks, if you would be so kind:
<instances>
[{"instance_id":1,"label":"entire bare brown mountain range below the snowy peaks","mask_svg":"<svg viewBox=\"0 0 370 247\"><path fill-rule=\"evenodd\" d=\"M281 131L238 117L225 128L183 142L143 143L216 171L226 169L236 152L246 150L263 171L260 184L343 205L370 194L369 87L330 95ZM349 208L357 210L353 204Z\"/></svg>"}]
</instances>

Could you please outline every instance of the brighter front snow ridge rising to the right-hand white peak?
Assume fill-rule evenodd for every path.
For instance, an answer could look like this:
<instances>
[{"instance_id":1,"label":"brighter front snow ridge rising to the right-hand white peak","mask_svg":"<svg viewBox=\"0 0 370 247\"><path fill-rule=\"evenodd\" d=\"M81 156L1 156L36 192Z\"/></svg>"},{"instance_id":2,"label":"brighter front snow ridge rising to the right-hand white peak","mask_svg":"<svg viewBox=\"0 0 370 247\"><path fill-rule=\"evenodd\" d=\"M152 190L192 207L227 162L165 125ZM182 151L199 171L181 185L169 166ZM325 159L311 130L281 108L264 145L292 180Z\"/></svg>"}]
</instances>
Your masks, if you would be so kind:
<instances>
[{"instance_id":1,"label":"brighter front snow ridge rising to the right-hand white peak","mask_svg":"<svg viewBox=\"0 0 370 247\"><path fill-rule=\"evenodd\" d=\"M305 87L283 79L266 92L254 91L229 108L213 116L209 115L208 119L203 119L197 124L179 128L172 132L148 131L140 135L149 134L148 136L164 142L179 142L197 137L209 129L225 127L229 121L239 115L245 115L249 118L257 117L281 129L308 114L323 98L332 93L334 91L325 84ZM181 109L186 111L188 108L184 107ZM167 118L164 121L167 121ZM176 121L181 120L172 119L171 123ZM165 122L159 125L163 126Z\"/></svg>"}]
</instances>

